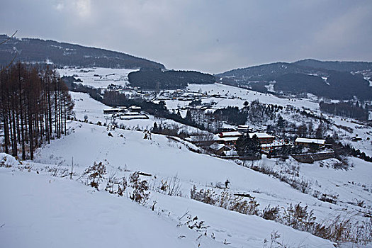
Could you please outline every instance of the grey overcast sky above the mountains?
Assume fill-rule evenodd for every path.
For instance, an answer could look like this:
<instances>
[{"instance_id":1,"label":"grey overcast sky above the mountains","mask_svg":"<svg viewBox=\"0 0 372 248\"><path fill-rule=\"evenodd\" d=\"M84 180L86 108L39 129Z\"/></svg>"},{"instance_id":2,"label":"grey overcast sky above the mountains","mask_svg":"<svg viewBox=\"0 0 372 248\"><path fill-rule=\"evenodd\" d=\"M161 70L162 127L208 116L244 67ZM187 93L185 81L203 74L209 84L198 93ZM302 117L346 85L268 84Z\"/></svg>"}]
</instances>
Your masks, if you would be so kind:
<instances>
[{"instance_id":1,"label":"grey overcast sky above the mountains","mask_svg":"<svg viewBox=\"0 0 372 248\"><path fill-rule=\"evenodd\" d=\"M0 33L103 47L169 69L372 61L372 1L2 0Z\"/></svg>"}]
</instances>

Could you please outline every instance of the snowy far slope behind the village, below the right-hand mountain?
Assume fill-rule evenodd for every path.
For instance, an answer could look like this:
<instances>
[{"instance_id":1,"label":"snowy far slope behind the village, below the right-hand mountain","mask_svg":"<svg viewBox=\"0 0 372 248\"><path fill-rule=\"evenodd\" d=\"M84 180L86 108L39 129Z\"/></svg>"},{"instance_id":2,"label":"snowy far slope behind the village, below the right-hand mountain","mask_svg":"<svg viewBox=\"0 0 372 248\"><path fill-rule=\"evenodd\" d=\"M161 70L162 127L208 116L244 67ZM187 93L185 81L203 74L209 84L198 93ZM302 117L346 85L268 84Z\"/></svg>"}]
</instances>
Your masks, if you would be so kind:
<instances>
[{"instance_id":1,"label":"snowy far slope behind the village, below the right-hand mountain","mask_svg":"<svg viewBox=\"0 0 372 248\"><path fill-rule=\"evenodd\" d=\"M356 120L351 118L341 118L334 115L329 115L321 113L319 108L319 103L309 98L288 98L283 97L279 98L272 94L264 94L257 91L250 91L247 89L237 88L235 86L227 86L224 84L190 84L188 89L191 91L201 91L206 92L208 95L219 94L225 98L207 98L203 99L202 103L210 103L214 101L215 105L213 108L225 108L227 106L237 106L242 108L244 101L252 102L258 100L260 103L265 104L276 104L279 106L293 106L300 110L304 108L310 113L315 113L315 115L322 115L323 117L331 120L335 125L351 128L351 133L346 132L342 128L337 128L335 125L329 126L329 130L334 130L337 135L342 137L345 144L350 144L352 147L365 152L368 156L372 156L372 127L363 124L357 124ZM177 108L178 106L186 105L185 102L179 101L166 101L167 107L169 109ZM183 105L182 105L183 104ZM283 118L290 120L296 125L303 123L308 123L306 117L292 113L280 113L283 115ZM311 120L314 122L315 120ZM270 123L272 124L272 123ZM315 124L315 123L314 123ZM329 133L332 135L332 133ZM359 142L351 142L352 137L361 137ZM369 137L369 140L368 140Z\"/></svg>"}]
</instances>

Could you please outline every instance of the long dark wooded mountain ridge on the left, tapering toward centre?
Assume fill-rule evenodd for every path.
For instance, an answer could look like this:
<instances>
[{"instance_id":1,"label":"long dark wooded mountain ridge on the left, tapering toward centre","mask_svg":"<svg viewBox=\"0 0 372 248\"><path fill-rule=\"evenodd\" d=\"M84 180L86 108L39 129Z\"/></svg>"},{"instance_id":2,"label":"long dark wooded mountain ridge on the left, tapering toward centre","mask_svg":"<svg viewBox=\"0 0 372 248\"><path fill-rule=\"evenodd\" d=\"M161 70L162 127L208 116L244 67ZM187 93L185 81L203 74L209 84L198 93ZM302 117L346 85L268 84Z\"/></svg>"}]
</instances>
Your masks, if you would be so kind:
<instances>
[{"instance_id":1,"label":"long dark wooded mountain ridge on the left, tapering toward centre","mask_svg":"<svg viewBox=\"0 0 372 248\"><path fill-rule=\"evenodd\" d=\"M0 43L7 38L7 35L0 35ZM16 54L16 61L52 62L57 66L164 69L163 64L123 52L33 38L12 38L0 45L0 65L8 64Z\"/></svg>"}]
</instances>

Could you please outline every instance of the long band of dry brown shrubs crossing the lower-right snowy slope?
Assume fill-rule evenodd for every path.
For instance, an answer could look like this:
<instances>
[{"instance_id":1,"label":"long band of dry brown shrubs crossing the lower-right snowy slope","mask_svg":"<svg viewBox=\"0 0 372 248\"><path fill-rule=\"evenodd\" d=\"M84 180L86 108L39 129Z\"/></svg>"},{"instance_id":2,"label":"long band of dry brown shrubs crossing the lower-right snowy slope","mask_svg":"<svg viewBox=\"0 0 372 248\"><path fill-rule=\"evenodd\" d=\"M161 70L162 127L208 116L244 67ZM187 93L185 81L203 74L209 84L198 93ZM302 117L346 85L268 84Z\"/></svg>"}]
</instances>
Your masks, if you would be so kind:
<instances>
[{"instance_id":1,"label":"long band of dry brown shrubs crossing the lower-right snowy slope","mask_svg":"<svg viewBox=\"0 0 372 248\"><path fill-rule=\"evenodd\" d=\"M242 197L233 196L227 189L222 191L218 197L213 190L201 189L197 191L196 186L193 186L190 193L191 198L196 201L217 205L247 215L257 215L266 220L274 220L296 230L310 232L312 235L333 242L353 242L362 245L372 242L371 213L368 213L368 220L363 222L355 222L351 218L340 218L339 216L328 222L316 222L313 211L309 211L307 205L301 206L300 203L291 204L288 208L279 208L279 206L271 208L269 205L262 212L259 212L259 203L254 197L249 197L249 201L243 201ZM274 239L276 240L278 237L274 237ZM278 242L276 244L279 245L278 247L284 247Z\"/></svg>"}]
</instances>

